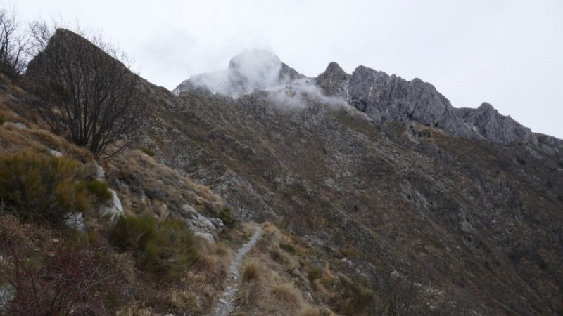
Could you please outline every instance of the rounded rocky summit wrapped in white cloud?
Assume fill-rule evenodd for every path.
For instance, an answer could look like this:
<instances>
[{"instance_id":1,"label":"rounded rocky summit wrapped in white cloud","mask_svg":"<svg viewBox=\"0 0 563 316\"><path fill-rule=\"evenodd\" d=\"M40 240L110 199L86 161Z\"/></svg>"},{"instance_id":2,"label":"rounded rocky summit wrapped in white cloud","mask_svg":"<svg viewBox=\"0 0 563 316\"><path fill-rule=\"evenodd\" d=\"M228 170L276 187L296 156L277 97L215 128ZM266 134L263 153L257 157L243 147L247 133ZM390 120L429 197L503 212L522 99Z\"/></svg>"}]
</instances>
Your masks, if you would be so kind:
<instances>
[{"instance_id":1,"label":"rounded rocky summit wrapped in white cloud","mask_svg":"<svg viewBox=\"0 0 563 316\"><path fill-rule=\"evenodd\" d=\"M179 84L175 93L207 88L213 93L238 96L252 93L255 90L289 84L303 78L293 68L279 60L277 55L269 51L245 51L234 56L227 70L196 74Z\"/></svg>"}]
</instances>

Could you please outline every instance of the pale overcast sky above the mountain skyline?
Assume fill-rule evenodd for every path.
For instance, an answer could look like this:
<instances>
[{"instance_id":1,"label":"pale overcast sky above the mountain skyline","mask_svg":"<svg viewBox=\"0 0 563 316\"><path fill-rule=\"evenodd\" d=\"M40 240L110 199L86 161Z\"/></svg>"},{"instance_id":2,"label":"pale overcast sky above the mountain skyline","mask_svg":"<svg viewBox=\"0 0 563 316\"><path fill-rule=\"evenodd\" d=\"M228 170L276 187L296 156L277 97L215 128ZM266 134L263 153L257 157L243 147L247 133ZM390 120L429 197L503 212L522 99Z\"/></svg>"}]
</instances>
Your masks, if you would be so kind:
<instances>
[{"instance_id":1,"label":"pale overcast sky above the mountain skyline","mask_svg":"<svg viewBox=\"0 0 563 316\"><path fill-rule=\"evenodd\" d=\"M6 2L6 1L4 1ZM9 1L8 1L9 2ZM307 76L331 61L418 77L455 107L491 103L563 138L563 1L17 0L25 21L101 31L134 70L172 90L265 48Z\"/></svg>"}]
</instances>

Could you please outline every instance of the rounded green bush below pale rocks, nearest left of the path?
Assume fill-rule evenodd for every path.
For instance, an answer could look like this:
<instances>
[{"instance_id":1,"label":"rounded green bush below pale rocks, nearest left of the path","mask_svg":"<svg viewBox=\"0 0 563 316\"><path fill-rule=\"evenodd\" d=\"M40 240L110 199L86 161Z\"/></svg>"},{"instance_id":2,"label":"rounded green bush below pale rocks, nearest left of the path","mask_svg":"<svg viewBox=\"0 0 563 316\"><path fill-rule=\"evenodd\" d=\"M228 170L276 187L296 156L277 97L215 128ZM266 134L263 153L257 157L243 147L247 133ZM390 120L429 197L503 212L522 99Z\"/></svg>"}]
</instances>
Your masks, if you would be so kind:
<instances>
[{"instance_id":1,"label":"rounded green bush below pale rocks, nearest left of the path","mask_svg":"<svg viewBox=\"0 0 563 316\"><path fill-rule=\"evenodd\" d=\"M191 232L181 220L122 216L110 232L110 242L121 251L133 251L137 266L156 275L176 277L198 259Z\"/></svg>"}]
</instances>

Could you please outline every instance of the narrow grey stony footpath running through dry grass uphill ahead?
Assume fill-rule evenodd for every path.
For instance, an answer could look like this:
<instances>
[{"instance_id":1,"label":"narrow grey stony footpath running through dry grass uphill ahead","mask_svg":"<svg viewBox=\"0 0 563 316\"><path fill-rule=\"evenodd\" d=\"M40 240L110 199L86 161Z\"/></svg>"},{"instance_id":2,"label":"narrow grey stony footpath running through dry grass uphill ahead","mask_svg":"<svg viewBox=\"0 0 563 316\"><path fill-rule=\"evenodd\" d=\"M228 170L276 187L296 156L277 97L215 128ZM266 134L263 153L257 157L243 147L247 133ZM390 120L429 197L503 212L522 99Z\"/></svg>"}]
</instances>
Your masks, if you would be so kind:
<instances>
[{"instance_id":1,"label":"narrow grey stony footpath running through dry grass uphill ahead","mask_svg":"<svg viewBox=\"0 0 563 316\"><path fill-rule=\"evenodd\" d=\"M234 310L234 298L236 298L236 291L238 290L239 273L241 272L243 258L256 244L260 235L262 235L262 227L256 226L251 239L241 246L241 249L236 253L233 261L231 261L229 275L227 275L227 288L223 291L219 302L217 302L217 307L215 308L216 316L227 316Z\"/></svg>"}]
</instances>

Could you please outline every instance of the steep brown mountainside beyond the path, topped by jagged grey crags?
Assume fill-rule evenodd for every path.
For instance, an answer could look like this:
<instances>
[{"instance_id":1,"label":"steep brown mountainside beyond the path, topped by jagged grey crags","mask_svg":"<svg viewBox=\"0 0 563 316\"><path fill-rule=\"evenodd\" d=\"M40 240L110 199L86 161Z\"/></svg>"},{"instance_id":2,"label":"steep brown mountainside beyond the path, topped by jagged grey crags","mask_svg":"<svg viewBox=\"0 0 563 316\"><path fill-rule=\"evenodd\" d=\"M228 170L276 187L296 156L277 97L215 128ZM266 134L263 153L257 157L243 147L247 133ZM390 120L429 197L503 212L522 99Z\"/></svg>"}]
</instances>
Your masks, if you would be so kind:
<instances>
[{"instance_id":1,"label":"steep brown mountainside beyond the path, topped by jagged grey crags","mask_svg":"<svg viewBox=\"0 0 563 316\"><path fill-rule=\"evenodd\" d=\"M363 275L422 268L489 312L562 312L561 140L366 67L331 63L311 84L351 106L159 90L147 145L240 218L278 220L326 254L358 248Z\"/></svg>"}]
</instances>

